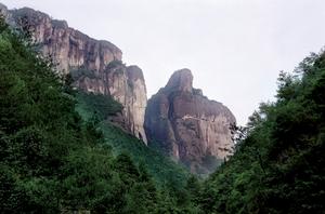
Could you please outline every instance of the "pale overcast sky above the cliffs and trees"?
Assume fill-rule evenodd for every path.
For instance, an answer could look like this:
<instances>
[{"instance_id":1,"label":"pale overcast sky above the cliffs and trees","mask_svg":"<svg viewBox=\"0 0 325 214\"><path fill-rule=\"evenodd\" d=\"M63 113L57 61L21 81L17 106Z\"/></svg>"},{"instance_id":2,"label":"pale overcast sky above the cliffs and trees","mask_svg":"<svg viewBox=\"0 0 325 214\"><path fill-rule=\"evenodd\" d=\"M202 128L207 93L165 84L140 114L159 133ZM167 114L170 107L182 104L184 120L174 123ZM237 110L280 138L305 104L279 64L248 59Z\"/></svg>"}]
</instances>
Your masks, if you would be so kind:
<instances>
[{"instance_id":1,"label":"pale overcast sky above the cliffs and trees","mask_svg":"<svg viewBox=\"0 0 325 214\"><path fill-rule=\"evenodd\" d=\"M0 0L65 19L139 65L148 97L190 68L194 86L245 124L273 101L280 70L325 44L324 0Z\"/></svg>"}]
</instances>

